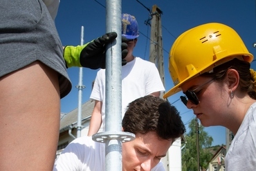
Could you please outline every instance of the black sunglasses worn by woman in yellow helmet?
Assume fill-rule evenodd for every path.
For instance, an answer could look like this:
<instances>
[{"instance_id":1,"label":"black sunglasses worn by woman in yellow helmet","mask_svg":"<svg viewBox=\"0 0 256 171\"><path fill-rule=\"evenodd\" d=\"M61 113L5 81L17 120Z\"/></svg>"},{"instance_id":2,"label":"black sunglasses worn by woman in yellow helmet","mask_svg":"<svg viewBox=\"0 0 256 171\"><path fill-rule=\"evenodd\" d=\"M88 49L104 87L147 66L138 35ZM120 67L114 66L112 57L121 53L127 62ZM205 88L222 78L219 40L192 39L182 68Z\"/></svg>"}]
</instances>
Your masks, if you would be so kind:
<instances>
[{"instance_id":1,"label":"black sunglasses worn by woman in yellow helmet","mask_svg":"<svg viewBox=\"0 0 256 171\"><path fill-rule=\"evenodd\" d=\"M181 96L181 101L184 103L184 105L187 106L188 100L190 100L193 104L198 105L199 104L199 99L196 96L196 93L194 91L198 90L199 88L205 86L206 84L210 83L211 81L213 81L213 79L211 79L210 81L207 81L206 83L204 83L203 85L199 86L198 88L194 89L194 90L187 90L184 94L185 96Z\"/></svg>"}]
</instances>

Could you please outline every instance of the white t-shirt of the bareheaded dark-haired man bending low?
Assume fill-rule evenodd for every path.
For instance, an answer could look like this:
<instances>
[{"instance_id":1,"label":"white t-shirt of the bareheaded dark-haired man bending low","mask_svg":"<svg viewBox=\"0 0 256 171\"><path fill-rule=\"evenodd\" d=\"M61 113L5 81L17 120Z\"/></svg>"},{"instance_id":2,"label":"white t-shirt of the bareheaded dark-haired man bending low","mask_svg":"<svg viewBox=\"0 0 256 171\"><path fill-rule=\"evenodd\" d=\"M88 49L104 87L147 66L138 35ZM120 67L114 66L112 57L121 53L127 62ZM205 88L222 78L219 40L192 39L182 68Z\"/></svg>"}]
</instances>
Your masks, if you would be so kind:
<instances>
[{"instance_id":1,"label":"white t-shirt of the bareheaded dark-haired man bending low","mask_svg":"<svg viewBox=\"0 0 256 171\"><path fill-rule=\"evenodd\" d=\"M105 144L97 143L91 137L73 140L62 151L54 164L54 171L104 171ZM152 171L165 171L159 162Z\"/></svg>"}]
</instances>

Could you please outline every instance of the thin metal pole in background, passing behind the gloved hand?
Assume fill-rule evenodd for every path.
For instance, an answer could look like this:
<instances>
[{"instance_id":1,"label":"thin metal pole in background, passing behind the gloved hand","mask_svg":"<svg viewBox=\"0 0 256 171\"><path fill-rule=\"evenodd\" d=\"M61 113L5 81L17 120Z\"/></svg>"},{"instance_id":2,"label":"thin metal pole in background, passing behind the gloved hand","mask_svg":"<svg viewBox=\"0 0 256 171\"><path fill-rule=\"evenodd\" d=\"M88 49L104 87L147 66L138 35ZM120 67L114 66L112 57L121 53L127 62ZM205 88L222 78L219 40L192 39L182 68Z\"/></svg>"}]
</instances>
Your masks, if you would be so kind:
<instances>
[{"instance_id":1,"label":"thin metal pole in background, passing behind the gloved hand","mask_svg":"<svg viewBox=\"0 0 256 171\"><path fill-rule=\"evenodd\" d=\"M84 26L81 27L80 45L84 45ZM79 83L75 87L78 88L77 138L79 138L81 137L82 130L82 89L85 88L85 86L82 85L82 67L79 68Z\"/></svg>"}]
</instances>

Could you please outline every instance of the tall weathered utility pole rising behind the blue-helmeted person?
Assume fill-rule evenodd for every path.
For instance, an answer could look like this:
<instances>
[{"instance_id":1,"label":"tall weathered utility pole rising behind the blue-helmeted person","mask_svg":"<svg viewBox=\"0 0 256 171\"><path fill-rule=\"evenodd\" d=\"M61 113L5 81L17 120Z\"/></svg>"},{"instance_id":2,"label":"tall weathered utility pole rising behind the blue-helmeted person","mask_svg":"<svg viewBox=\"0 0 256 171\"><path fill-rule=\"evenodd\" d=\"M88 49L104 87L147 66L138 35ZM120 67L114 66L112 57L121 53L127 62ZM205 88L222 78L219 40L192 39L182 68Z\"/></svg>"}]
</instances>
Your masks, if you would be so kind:
<instances>
[{"instance_id":1,"label":"tall weathered utility pole rising behind the blue-helmeted person","mask_svg":"<svg viewBox=\"0 0 256 171\"><path fill-rule=\"evenodd\" d=\"M151 36L150 36L150 49L149 49L149 61L156 64L158 72L165 86L165 77L163 71L163 39L162 39L162 23L161 14L163 12L154 5L152 7L152 21L151 21ZM161 93L163 98L163 92Z\"/></svg>"}]
</instances>

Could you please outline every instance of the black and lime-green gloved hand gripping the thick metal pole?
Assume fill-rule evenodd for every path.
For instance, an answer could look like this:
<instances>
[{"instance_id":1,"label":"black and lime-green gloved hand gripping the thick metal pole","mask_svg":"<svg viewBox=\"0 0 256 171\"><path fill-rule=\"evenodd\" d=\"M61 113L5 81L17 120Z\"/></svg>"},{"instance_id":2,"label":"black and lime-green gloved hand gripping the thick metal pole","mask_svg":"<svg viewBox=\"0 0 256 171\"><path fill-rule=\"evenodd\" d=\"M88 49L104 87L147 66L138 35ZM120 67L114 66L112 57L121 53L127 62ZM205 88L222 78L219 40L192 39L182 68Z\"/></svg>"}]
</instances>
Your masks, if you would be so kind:
<instances>
[{"instance_id":1,"label":"black and lime-green gloved hand gripping the thick metal pole","mask_svg":"<svg viewBox=\"0 0 256 171\"><path fill-rule=\"evenodd\" d=\"M104 69L106 63L106 44L116 39L117 36L116 32L109 32L83 46L66 46L63 54L66 68L77 66L93 70L98 68ZM122 66L127 63L125 60L128 54L126 42L127 39L122 37Z\"/></svg>"}]
</instances>

